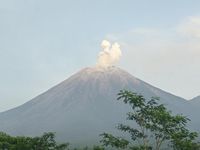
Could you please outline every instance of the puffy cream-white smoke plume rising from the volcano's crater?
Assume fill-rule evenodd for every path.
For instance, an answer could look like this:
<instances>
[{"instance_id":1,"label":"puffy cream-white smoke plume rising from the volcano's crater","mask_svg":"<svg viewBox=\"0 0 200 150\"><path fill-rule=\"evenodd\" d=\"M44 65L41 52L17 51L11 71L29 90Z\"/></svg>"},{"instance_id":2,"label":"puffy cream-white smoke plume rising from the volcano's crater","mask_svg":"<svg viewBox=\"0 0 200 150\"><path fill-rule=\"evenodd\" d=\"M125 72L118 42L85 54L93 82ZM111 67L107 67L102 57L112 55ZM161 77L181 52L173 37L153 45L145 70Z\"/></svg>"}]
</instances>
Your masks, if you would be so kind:
<instances>
[{"instance_id":1,"label":"puffy cream-white smoke plume rising from the volcano's crater","mask_svg":"<svg viewBox=\"0 0 200 150\"><path fill-rule=\"evenodd\" d=\"M99 53L97 66L109 67L119 61L122 53L118 43L111 45L109 41L103 40L101 47L102 51Z\"/></svg>"}]
</instances>

